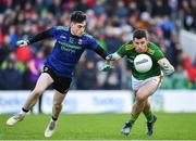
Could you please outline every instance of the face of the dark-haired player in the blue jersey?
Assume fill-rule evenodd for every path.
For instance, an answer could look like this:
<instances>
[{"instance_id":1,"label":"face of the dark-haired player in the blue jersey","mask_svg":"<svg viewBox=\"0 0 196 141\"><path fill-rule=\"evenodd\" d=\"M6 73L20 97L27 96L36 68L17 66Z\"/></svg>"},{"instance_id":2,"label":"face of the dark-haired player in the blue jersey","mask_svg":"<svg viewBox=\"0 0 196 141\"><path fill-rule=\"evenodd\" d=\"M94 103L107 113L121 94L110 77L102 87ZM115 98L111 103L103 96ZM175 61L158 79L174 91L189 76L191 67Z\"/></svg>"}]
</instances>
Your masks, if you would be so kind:
<instances>
[{"instance_id":1,"label":"face of the dark-haired player in the blue jersey","mask_svg":"<svg viewBox=\"0 0 196 141\"><path fill-rule=\"evenodd\" d=\"M83 23L71 23L71 33L75 36L83 36L86 27L86 22Z\"/></svg>"}]
</instances>

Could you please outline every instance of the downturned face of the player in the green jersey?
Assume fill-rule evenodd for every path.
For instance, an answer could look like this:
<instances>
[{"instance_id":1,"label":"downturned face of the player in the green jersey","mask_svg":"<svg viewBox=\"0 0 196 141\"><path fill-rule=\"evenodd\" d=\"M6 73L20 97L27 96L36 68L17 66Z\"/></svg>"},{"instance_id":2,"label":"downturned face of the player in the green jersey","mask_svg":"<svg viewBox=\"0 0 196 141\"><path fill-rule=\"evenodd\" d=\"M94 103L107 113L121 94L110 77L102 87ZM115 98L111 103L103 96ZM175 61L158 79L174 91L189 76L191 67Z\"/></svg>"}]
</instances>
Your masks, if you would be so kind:
<instances>
[{"instance_id":1,"label":"downturned face of the player in the green jersey","mask_svg":"<svg viewBox=\"0 0 196 141\"><path fill-rule=\"evenodd\" d=\"M138 53L144 53L146 52L148 40L146 38L134 38L133 43L135 46L135 51Z\"/></svg>"}]
</instances>

